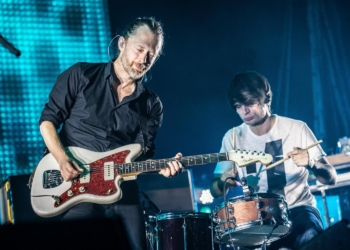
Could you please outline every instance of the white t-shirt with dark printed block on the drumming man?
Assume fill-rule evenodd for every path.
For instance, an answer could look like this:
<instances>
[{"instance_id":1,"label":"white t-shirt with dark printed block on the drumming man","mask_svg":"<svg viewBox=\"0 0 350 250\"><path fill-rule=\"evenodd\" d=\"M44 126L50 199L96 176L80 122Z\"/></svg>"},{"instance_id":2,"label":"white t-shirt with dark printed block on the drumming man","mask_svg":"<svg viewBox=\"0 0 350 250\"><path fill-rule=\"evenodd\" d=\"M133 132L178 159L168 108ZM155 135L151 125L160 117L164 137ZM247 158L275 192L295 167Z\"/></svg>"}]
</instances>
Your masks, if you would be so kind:
<instances>
[{"instance_id":1,"label":"white t-shirt with dark printed block on the drumming man","mask_svg":"<svg viewBox=\"0 0 350 250\"><path fill-rule=\"evenodd\" d=\"M222 140L220 152L232 150L233 129L225 134ZM265 135L255 135L245 123L236 127L236 148L257 152L266 152L273 156L273 162L286 157L293 147L306 148L317 140L302 121L276 116L272 129ZM310 159L318 161L325 156L320 145L314 146L309 151ZM232 168L232 162L219 162L216 165L215 174L222 174L225 170ZM260 162L247 167L238 167L240 177L246 177L248 185L259 193L277 193L285 196L288 207L300 205L315 206L313 196L307 182L309 172L305 167L298 167L292 159L280 165L260 172L265 166Z\"/></svg>"}]
</instances>

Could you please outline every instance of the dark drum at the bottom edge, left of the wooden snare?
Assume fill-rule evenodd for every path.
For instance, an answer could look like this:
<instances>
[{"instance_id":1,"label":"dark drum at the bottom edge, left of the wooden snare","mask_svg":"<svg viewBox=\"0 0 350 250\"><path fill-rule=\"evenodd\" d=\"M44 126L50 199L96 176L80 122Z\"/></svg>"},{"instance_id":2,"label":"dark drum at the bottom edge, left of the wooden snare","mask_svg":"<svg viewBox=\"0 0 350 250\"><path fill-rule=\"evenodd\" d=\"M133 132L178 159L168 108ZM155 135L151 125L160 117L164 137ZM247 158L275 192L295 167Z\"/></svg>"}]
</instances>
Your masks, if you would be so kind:
<instances>
[{"instance_id":1,"label":"dark drum at the bottom edge, left of the wooden snare","mask_svg":"<svg viewBox=\"0 0 350 250\"><path fill-rule=\"evenodd\" d=\"M211 250L212 219L206 213L165 213L157 216L158 250Z\"/></svg>"}]
</instances>

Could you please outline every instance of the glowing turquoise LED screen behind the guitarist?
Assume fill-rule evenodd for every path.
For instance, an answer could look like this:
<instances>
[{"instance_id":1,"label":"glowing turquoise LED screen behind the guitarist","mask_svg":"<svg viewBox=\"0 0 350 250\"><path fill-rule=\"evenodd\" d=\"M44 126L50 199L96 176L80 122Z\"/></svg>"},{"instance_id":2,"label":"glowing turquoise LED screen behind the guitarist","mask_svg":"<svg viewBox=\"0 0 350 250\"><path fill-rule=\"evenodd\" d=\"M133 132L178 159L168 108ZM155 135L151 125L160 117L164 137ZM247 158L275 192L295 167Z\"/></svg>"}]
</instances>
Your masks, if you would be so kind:
<instances>
[{"instance_id":1,"label":"glowing turquoise LED screen behind the guitarist","mask_svg":"<svg viewBox=\"0 0 350 250\"><path fill-rule=\"evenodd\" d=\"M38 121L57 76L76 62L109 60L107 4L107 0L1 2L0 34L21 51L16 57L0 44L2 180L29 174L40 161L44 143Z\"/></svg>"}]
</instances>

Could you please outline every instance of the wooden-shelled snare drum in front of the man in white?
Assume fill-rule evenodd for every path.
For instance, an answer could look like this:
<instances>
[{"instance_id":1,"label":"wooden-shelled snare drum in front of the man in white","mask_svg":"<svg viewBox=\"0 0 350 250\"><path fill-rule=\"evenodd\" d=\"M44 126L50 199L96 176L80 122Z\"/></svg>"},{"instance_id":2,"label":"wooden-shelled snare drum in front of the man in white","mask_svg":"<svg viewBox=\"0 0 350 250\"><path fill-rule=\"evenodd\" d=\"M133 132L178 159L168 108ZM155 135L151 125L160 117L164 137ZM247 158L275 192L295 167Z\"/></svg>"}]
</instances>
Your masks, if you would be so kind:
<instances>
[{"instance_id":1,"label":"wooden-shelled snare drum in front of the man in white","mask_svg":"<svg viewBox=\"0 0 350 250\"><path fill-rule=\"evenodd\" d=\"M215 239L234 246L262 245L276 241L291 229L288 207L283 196L256 193L249 199L238 196L213 211Z\"/></svg>"}]
</instances>

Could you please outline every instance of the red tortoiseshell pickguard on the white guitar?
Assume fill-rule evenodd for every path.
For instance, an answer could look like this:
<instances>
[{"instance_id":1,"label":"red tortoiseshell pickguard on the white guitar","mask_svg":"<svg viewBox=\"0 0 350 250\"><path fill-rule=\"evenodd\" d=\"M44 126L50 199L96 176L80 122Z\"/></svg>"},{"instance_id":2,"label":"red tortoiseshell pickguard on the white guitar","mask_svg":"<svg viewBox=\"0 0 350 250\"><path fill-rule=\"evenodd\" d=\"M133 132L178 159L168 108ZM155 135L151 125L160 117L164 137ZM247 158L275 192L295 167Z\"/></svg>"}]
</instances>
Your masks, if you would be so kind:
<instances>
[{"instance_id":1,"label":"red tortoiseshell pickguard on the white guitar","mask_svg":"<svg viewBox=\"0 0 350 250\"><path fill-rule=\"evenodd\" d=\"M95 162L89 164L90 166L90 182L80 183L79 178L77 181L72 181L72 186L68 190L73 191L72 196L68 196L68 190L64 192L60 197L60 202L55 202L55 207L59 207L65 202L81 194L92 194L97 196L109 196L115 194L118 190L115 185L115 178L118 176L118 169L114 167L114 179L104 180L103 166L105 162L113 161L114 164L125 163L125 158L130 153L130 150L121 151L106 157L103 157ZM85 192L81 193L79 191L80 187L84 187Z\"/></svg>"}]
</instances>

